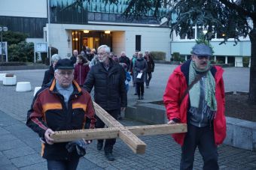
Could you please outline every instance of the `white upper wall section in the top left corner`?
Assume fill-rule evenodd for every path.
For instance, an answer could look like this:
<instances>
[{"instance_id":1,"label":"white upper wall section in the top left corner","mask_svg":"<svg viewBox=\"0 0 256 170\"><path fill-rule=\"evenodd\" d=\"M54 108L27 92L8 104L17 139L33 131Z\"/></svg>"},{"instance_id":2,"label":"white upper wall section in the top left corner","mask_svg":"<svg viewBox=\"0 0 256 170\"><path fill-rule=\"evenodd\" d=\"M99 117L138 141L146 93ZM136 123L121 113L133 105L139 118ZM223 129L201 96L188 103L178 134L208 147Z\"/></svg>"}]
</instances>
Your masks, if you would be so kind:
<instances>
[{"instance_id":1,"label":"white upper wall section in the top left corner","mask_svg":"<svg viewBox=\"0 0 256 170\"><path fill-rule=\"evenodd\" d=\"M47 18L47 0L0 0L0 16Z\"/></svg>"}]
</instances>

